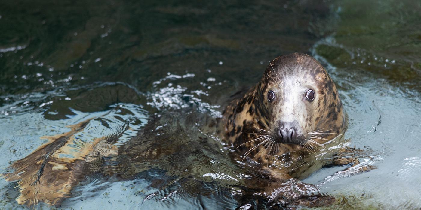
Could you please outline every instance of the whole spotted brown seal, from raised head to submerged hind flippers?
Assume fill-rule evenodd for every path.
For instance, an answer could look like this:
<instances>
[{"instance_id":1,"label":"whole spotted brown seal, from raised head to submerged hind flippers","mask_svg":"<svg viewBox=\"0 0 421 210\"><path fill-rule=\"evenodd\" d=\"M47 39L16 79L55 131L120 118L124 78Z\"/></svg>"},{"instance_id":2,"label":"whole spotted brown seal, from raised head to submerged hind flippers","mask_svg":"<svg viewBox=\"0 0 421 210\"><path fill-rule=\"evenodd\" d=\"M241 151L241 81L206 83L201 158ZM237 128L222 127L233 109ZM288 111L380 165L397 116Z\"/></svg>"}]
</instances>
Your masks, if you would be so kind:
<instances>
[{"instance_id":1,"label":"whole spotted brown seal, from raised head to submerged hind flippers","mask_svg":"<svg viewBox=\"0 0 421 210\"><path fill-rule=\"evenodd\" d=\"M208 120L206 115L201 115L200 119L208 124L205 127L219 134L220 139L232 144L234 159L255 163L262 174L268 175L268 181L258 181L256 186L257 181L250 181L250 188L256 189L257 194L271 197L272 201L291 194L282 194L278 190L275 196L276 189L292 191L293 186L299 186L314 188L312 192L317 193L311 185L299 181L292 183L292 166L285 167L282 163L285 154L288 154L289 160L296 160L312 151L322 150L324 143L336 142L334 139L346 129L346 115L338 91L320 63L301 53L280 56L272 60L256 86L244 95L234 97L226 106L222 118ZM177 151L181 148L196 152L200 151L197 150L199 147L207 147L206 150L215 151L213 159L221 158L218 155L224 154L218 153L220 148L205 143L202 137L199 138L201 142L189 144L177 140L191 138L192 132L182 131L179 126L197 119L189 118L190 115L185 122L180 122L182 118L179 117L171 123L154 115L148 125L124 145L117 144L119 134L116 134L80 144L80 150L72 154L72 158L60 155L70 151L69 145L75 141L75 133L83 131L89 119L71 126L72 131L48 137L49 142L12 163L3 176L7 181L18 181L20 196L16 200L19 204L35 206L44 202L58 205L63 198L71 197L72 188L83 181L87 171L124 179L148 170L152 165L169 171L162 162L177 155L179 159L185 158ZM157 128L164 123L173 127L159 136L155 135L159 131ZM154 135L149 131L153 131ZM104 161L121 164L104 164ZM177 166L183 169L179 170L182 172L178 176L189 177L188 173L195 173L187 170L192 163L183 161L182 164ZM198 174L196 181L201 177L202 174ZM295 198L298 199L291 203L314 205L308 202L309 197L290 196L290 199Z\"/></svg>"}]
</instances>

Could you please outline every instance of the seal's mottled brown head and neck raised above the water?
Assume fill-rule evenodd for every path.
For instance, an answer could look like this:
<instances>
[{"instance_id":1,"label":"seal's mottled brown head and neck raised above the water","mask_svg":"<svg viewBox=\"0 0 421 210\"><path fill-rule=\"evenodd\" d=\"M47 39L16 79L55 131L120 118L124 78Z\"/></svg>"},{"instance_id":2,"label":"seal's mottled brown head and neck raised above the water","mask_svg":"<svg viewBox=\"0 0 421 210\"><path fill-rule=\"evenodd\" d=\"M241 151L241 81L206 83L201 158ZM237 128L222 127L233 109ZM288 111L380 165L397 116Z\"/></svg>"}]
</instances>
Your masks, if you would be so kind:
<instances>
[{"instance_id":1,"label":"seal's mottled brown head and neck raised above the water","mask_svg":"<svg viewBox=\"0 0 421 210\"><path fill-rule=\"evenodd\" d=\"M346 128L335 84L317 60L301 53L272 60L260 82L227 106L224 120L226 139L259 163L323 147Z\"/></svg>"}]
</instances>

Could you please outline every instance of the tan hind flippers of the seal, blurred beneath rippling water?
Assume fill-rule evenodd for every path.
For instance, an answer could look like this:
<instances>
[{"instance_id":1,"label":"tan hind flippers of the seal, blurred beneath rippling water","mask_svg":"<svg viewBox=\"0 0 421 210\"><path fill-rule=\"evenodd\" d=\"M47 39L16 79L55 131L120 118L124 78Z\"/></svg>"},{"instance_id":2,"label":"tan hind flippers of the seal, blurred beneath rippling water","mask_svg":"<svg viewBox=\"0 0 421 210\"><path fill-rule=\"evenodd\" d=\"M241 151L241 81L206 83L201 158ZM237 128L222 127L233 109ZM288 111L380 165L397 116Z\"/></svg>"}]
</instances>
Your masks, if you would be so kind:
<instances>
[{"instance_id":1,"label":"tan hind flippers of the seal, blurred beneath rippling water","mask_svg":"<svg viewBox=\"0 0 421 210\"><path fill-rule=\"evenodd\" d=\"M20 205L35 206L39 202L59 205L61 200L70 196L73 186L77 185L88 170L91 156L103 147L104 138L83 142L75 138L82 132L91 119L69 126L72 130L56 135L43 136L49 142L21 160L16 160L3 173L6 181L18 181ZM117 154L116 148L105 153ZM101 149L102 150L102 149ZM103 152L104 153L104 152ZM104 155L104 154L101 154Z\"/></svg>"}]
</instances>

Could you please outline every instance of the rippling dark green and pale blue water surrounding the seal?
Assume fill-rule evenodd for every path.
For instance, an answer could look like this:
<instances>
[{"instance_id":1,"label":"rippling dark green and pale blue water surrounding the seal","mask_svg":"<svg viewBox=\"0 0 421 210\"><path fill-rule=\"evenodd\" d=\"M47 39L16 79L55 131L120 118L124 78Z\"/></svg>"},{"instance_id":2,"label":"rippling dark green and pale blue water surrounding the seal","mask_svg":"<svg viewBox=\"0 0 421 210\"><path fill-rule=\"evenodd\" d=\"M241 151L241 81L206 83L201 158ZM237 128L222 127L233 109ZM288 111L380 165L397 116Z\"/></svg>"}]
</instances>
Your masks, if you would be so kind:
<instances>
[{"instance_id":1,"label":"rippling dark green and pale blue water surrounding the seal","mask_svg":"<svg viewBox=\"0 0 421 210\"><path fill-rule=\"evenodd\" d=\"M376 167L349 177L335 174L346 167L322 168L303 181L336 197L328 209L420 208L420 10L409 0L3 1L0 167L89 118L97 120L82 139L122 134L124 145L160 115L154 129L183 132L170 144L145 143L169 151L139 166L156 168L131 179L90 176L56 208L235 207L244 192L232 186L256 176L203 125L229 95L256 84L269 59L302 52L338 86L346 144ZM25 208L14 186L1 181L2 208Z\"/></svg>"}]
</instances>

